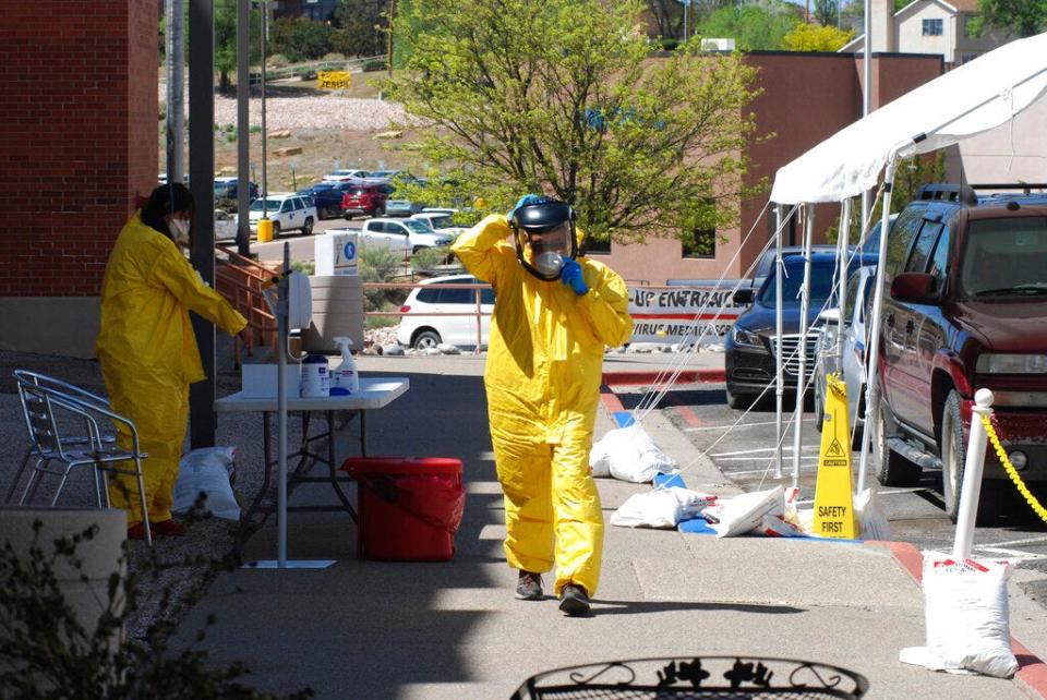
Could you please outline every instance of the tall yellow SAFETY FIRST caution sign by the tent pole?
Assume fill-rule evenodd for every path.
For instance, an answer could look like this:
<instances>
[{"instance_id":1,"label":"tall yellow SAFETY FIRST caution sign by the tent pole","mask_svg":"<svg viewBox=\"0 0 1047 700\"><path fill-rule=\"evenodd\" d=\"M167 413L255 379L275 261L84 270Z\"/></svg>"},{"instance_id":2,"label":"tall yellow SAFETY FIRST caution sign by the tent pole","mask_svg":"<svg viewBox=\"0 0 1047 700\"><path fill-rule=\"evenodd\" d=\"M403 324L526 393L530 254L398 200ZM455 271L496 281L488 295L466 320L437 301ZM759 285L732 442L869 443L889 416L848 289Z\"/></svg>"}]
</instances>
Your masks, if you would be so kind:
<instances>
[{"instance_id":1,"label":"tall yellow SAFETY FIRST caution sign by the tent pole","mask_svg":"<svg viewBox=\"0 0 1047 700\"><path fill-rule=\"evenodd\" d=\"M818 452L815 486L815 534L823 538L858 536L851 498L851 429L847 425L847 389L839 374L826 377L826 415Z\"/></svg>"}]
</instances>

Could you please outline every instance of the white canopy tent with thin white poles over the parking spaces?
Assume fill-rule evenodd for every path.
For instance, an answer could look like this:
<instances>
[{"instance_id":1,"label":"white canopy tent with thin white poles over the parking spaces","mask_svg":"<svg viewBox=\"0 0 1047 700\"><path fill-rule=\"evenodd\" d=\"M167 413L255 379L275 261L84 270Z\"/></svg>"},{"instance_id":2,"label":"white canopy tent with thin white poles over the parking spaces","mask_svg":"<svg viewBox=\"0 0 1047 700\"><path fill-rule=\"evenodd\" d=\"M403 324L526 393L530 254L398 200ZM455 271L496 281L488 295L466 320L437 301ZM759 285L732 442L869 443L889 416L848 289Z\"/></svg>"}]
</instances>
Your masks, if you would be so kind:
<instances>
[{"instance_id":1,"label":"white canopy tent with thin white poles over the parking spaces","mask_svg":"<svg viewBox=\"0 0 1047 700\"><path fill-rule=\"evenodd\" d=\"M887 257L888 217L894 167L899 158L929 153L953 145L998 126L1036 101L1047 92L1047 33L1012 41L930 81L868 117L839 131L801 157L779 169L771 190L778 205L846 203L850 197L877 186L883 176L883 208L880 230L879 267ZM844 216L849 208L843 207ZM863 221L863 228L866 226ZM809 226L808 217L808 226ZM846 230L841 227L841 230ZM841 254L846 249L841 246ZM781 256L778 261L781 267ZM809 263L808 263L809 264ZM845 270L846 267L844 266ZM842 275L841 275L842 276ZM781 279L781 275L778 275ZM842 286L841 286L842 288ZM874 293L870 337L879 336L883 303L882 285ZM806 303L806 293L804 300ZM843 306L843 299L840 304ZM806 305L802 315L806 314ZM801 338L804 348L806 338ZM781 354L779 343L779 354ZM866 415L877 406L879 343L869 343ZM779 358L779 363L781 359ZM798 378L803 386L803 375ZM798 389L802 396L802 389ZM799 399L797 399L797 410ZM867 420L867 424L871 420ZM798 423L797 423L798 426ZM871 430L865 431L856 488L865 487ZM781 435L779 435L779 444ZM798 438L797 438L798 439ZM798 471L798 460L794 462ZM795 479L795 471L794 471Z\"/></svg>"}]
</instances>

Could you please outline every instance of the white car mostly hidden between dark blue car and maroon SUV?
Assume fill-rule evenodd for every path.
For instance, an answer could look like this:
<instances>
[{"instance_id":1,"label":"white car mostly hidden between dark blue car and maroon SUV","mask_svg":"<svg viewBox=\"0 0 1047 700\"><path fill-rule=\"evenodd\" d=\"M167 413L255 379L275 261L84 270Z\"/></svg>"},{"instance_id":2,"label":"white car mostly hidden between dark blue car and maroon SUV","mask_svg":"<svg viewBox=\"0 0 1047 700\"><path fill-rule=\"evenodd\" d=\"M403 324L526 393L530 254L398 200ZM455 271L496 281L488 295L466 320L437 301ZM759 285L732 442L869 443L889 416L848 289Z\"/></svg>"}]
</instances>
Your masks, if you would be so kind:
<instances>
[{"instance_id":1,"label":"white car mostly hidden between dark blue car and maroon SUV","mask_svg":"<svg viewBox=\"0 0 1047 700\"><path fill-rule=\"evenodd\" d=\"M861 445L865 424L865 348L868 325L866 324L872 288L876 285L876 266L859 267L847 278L846 305L844 310L843 351L839 348L840 307L826 309L819 315L818 362L815 365L815 427L821 431L826 406L826 376L839 373L847 389L847 425L854 435L854 445Z\"/></svg>"}]
</instances>

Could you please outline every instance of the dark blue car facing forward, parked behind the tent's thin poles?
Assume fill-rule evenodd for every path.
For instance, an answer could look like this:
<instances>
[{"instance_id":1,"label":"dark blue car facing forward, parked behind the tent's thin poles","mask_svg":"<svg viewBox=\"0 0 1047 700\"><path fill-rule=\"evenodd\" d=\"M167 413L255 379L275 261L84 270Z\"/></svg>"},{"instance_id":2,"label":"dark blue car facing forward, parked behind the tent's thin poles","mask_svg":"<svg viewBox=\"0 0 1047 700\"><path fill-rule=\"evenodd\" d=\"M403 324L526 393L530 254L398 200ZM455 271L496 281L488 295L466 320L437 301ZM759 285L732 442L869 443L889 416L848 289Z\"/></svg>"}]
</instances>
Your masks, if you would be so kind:
<instances>
[{"instance_id":1,"label":"dark blue car facing forward, parked behind the tent's thin poles","mask_svg":"<svg viewBox=\"0 0 1047 700\"><path fill-rule=\"evenodd\" d=\"M784 384L795 390L799 375L799 288L804 281L804 257L783 256L785 276L782 283L782 329L784 355ZM863 258L855 256L851 269L861 266ZM810 303L807 310L808 327L814 331L806 338L805 374L815 371L818 351L818 315L833 293L837 271L834 253L814 253L810 256ZM779 338L775 322L775 278L773 267L759 290L742 288L734 293L737 304L751 304L734 322L724 343L724 370L726 372L727 405L745 408L765 388L773 385L777 376L775 352ZM809 374L808 374L809 376ZM769 391L773 391L769 389ZM766 396L766 394L765 394Z\"/></svg>"}]
</instances>

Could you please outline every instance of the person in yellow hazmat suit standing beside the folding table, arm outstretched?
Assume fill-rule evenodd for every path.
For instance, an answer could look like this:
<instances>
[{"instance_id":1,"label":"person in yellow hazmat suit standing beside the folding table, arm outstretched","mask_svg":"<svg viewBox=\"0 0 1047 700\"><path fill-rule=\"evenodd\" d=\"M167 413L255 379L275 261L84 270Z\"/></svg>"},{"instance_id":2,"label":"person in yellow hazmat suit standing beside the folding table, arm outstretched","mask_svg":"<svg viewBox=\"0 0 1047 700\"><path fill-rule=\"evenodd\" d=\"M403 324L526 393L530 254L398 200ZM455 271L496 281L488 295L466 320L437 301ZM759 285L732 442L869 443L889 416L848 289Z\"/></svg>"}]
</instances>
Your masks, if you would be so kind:
<instances>
[{"instance_id":1,"label":"person in yellow hazmat suit standing beside the folding table, arm outstretched","mask_svg":"<svg viewBox=\"0 0 1047 700\"><path fill-rule=\"evenodd\" d=\"M194 311L234 335L246 319L210 289L182 253L195 214L192 194L180 183L160 185L124 225L101 282L101 328L95 351L112 410L139 432L146 505L154 535L184 534L171 518L171 491L189 415L189 385L204 378ZM118 436L130 447L130 434ZM133 476L109 485L113 506L128 511L128 536L145 536L145 516Z\"/></svg>"}]
</instances>

